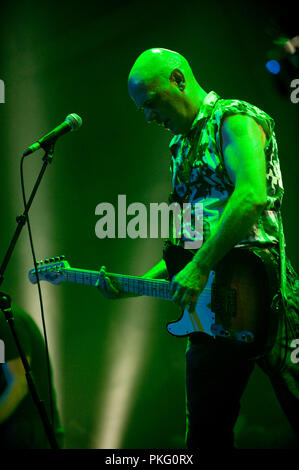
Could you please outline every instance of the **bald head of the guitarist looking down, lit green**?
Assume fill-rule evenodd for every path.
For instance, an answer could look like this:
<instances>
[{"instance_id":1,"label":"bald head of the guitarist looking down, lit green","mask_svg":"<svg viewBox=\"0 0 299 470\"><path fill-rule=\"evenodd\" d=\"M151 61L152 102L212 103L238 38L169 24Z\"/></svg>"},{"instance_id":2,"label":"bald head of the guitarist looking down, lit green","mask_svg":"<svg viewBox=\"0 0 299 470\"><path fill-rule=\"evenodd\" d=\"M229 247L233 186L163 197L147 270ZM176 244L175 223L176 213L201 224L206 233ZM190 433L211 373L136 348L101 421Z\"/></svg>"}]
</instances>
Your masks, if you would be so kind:
<instances>
[{"instance_id":1,"label":"bald head of the guitarist looking down, lit green","mask_svg":"<svg viewBox=\"0 0 299 470\"><path fill-rule=\"evenodd\" d=\"M128 79L131 98L174 134L186 134L206 95L187 60L168 49L148 49L137 58Z\"/></svg>"}]
</instances>

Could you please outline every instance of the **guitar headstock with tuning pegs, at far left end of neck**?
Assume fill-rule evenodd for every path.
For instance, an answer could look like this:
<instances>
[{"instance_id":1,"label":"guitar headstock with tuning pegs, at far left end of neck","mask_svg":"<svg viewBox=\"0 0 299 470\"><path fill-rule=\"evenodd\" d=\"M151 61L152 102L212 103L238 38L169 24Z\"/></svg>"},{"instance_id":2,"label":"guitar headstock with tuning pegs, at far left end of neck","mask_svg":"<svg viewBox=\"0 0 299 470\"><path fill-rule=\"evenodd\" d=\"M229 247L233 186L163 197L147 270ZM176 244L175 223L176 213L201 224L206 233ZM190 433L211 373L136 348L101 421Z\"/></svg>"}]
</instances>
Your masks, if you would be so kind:
<instances>
[{"instance_id":1,"label":"guitar headstock with tuning pegs, at far left end of neck","mask_svg":"<svg viewBox=\"0 0 299 470\"><path fill-rule=\"evenodd\" d=\"M64 270L70 268L69 263L64 256L56 256L55 258L46 258L37 262L37 272L40 281L48 281L52 284L59 284L65 280ZM37 283L36 271L31 269L28 273L29 281L32 284Z\"/></svg>"}]
</instances>

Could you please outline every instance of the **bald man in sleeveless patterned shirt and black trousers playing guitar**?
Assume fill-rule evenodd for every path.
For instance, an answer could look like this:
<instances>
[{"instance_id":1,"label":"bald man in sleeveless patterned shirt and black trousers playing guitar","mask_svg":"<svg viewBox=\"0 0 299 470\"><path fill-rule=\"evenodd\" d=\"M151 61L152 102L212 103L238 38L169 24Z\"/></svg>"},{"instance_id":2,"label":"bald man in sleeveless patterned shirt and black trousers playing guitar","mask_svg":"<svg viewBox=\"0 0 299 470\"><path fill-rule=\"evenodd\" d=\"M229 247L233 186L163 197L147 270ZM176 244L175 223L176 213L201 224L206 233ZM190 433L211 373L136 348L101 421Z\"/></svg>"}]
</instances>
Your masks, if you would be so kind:
<instances>
[{"instance_id":1,"label":"bald man in sleeveless patterned shirt and black trousers playing guitar","mask_svg":"<svg viewBox=\"0 0 299 470\"><path fill-rule=\"evenodd\" d=\"M296 273L288 260L286 289L294 301L291 313L285 312L277 300L283 185L274 121L245 101L221 99L213 91L207 93L188 61L167 49L143 52L130 71L128 88L146 120L173 134L170 142L173 191L169 201L203 204L203 233L195 235L202 237L200 249L185 257L185 266L176 269L173 277L173 253L181 259L182 253L188 251L184 250L184 243L194 241L194 233L192 238L190 226L182 220L182 236L172 234L164 246L163 258L144 276L172 279L173 300L193 312L215 267L222 266L224 283L225 277L230 276L232 261L242 260L239 266L242 273L242 267L251 259L249 254L264 260L267 253L273 265L271 286L263 285L258 271L252 274L256 277L256 302L265 328L262 349L229 341L221 332L215 337L201 332L189 335L187 447L233 448L240 398L256 360L270 376L290 423L298 430L294 418L299 416L298 367L290 360L290 338L284 328L288 322L292 327L298 326ZM235 258L229 257L231 253ZM228 260L226 264L224 260ZM235 282L238 283L238 278ZM101 268L98 285L108 298L127 296L111 281L106 267ZM274 294L278 294L276 309L271 310ZM250 303L251 297L248 290L245 304ZM270 327L269 318L274 315L279 321ZM226 333L233 335L229 328Z\"/></svg>"}]
</instances>

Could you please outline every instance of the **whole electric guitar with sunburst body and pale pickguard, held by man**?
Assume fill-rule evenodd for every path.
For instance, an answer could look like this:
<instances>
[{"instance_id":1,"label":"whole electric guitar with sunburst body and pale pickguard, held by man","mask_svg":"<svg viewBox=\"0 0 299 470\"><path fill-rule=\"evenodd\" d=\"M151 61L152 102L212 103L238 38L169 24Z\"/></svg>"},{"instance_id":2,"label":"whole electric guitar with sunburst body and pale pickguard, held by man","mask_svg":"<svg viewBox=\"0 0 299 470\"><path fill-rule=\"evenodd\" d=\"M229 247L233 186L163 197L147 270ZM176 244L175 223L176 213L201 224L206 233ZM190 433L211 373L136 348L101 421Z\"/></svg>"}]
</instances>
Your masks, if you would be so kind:
<instances>
[{"instance_id":1,"label":"whole electric guitar with sunburst body and pale pickguard, held by man","mask_svg":"<svg viewBox=\"0 0 299 470\"><path fill-rule=\"evenodd\" d=\"M207 284L200 294L195 311L186 307L177 321L167 324L174 336L205 333L243 343L262 344L275 325L269 315L269 299L273 296L271 257L262 250L257 256L250 250L234 249L210 272ZM183 248L172 246L164 256L170 279L192 259ZM60 284L71 282L96 286L99 272L72 268L63 256L45 259L37 266L40 280ZM270 274L269 274L270 273ZM139 276L107 273L117 281L124 292L172 300L171 282ZM29 280L37 282L35 269L29 271ZM182 310L182 309L181 309Z\"/></svg>"}]
</instances>

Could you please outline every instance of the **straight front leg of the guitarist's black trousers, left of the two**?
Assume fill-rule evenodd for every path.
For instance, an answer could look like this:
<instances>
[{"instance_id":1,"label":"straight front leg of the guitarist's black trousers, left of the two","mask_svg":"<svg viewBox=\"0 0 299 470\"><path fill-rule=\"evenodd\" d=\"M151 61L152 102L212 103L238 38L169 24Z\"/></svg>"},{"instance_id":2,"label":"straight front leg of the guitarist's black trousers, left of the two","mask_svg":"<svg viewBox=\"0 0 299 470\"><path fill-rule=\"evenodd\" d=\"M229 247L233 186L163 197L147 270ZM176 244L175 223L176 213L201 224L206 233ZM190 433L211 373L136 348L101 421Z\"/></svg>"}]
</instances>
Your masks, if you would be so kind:
<instances>
[{"instance_id":1,"label":"straight front leg of the guitarist's black trousers, left of the two","mask_svg":"<svg viewBox=\"0 0 299 470\"><path fill-rule=\"evenodd\" d=\"M246 350L225 339L198 335L186 352L187 447L233 448L240 398L253 370Z\"/></svg>"}]
</instances>

